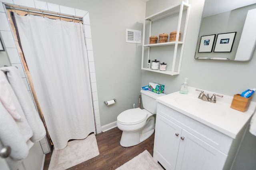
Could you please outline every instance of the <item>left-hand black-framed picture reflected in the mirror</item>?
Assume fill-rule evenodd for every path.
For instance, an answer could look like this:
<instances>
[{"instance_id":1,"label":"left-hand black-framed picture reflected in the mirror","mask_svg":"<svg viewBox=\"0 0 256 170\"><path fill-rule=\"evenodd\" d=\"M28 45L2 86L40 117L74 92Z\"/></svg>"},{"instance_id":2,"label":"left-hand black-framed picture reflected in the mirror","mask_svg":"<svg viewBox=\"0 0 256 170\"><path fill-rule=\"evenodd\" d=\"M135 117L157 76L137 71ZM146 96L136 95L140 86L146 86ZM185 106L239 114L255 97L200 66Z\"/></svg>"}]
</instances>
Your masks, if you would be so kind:
<instances>
[{"instance_id":1,"label":"left-hand black-framed picture reflected in the mirror","mask_svg":"<svg viewBox=\"0 0 256 170\"><path fill-rule=\"evenodd\" d=\"M199 44L198 53L212 52L215 36L216 34L202 36Z\"/></svg>"}]
</instances>

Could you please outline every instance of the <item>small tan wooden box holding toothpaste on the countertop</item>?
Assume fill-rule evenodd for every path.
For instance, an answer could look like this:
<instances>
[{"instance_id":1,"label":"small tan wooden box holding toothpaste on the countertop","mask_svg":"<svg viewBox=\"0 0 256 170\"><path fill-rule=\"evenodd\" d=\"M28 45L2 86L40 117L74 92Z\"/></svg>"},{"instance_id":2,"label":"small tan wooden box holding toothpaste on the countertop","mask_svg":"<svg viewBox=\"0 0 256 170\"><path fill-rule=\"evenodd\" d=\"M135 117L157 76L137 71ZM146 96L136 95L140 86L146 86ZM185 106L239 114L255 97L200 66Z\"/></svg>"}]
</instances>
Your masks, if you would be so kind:
<instances>
[{"instance_id":1,"label":"small tan wooden box holding toothpaste on the countertop","mask_svg":"<svg viewBox=\"0 0 256 170\"><path fill-rule=\"evenodd\" d=\"M246 98L246 97L241 97L240 94L236 94L233 97L233 101L230 107L232 109L245 112L248 110L251 100L252 100L252 97Z\"/></svg>"}]
</instances>

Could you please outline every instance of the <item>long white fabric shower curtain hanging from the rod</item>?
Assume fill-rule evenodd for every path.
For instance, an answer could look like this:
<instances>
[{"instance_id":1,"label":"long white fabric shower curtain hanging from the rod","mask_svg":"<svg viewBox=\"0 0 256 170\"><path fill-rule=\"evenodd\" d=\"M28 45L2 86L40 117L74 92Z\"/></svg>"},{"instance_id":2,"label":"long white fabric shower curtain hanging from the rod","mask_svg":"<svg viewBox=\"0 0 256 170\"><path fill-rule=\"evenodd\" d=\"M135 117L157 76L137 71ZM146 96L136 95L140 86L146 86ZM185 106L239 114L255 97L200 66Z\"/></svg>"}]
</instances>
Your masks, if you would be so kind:
<instances>
[{"instance_id":1,"label":"long white fabric shower curtain hanging from the rod","mask_svg":"<svg viewBox=\"0 0 256 170\"><path fill-rule=\"evenodd\" d=\"M33 15L15 20L54 149L95 133L83 25Z\"/></svg>"}]
</instances>

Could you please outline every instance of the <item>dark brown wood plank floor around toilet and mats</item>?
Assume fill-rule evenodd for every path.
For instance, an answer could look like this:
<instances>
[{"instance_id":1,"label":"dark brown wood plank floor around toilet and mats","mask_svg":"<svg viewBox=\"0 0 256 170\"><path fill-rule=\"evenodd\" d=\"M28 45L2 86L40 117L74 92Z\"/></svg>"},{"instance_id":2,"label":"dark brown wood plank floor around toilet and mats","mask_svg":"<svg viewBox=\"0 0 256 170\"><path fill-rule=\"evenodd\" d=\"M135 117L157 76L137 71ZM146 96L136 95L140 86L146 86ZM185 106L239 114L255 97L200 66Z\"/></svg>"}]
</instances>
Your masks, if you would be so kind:
<instances>
[{"instance_id":1,"label":"dark brown wood plank floor around toilet and mats","mask_svg":"<svg viewBox=\"0 0 256 170\"><path fill-rule=\"evenodd\" d=\"M96 134L96 140L100 154L90 160L82 162L69 170L114 170L128 162L144 150L153 156L154 134L144 142L131 147L122 147L120 138L122 131L117 127L100 134ZM48 170L51 153L46 154L44 170Z\"/></svg>"}]
</instances>

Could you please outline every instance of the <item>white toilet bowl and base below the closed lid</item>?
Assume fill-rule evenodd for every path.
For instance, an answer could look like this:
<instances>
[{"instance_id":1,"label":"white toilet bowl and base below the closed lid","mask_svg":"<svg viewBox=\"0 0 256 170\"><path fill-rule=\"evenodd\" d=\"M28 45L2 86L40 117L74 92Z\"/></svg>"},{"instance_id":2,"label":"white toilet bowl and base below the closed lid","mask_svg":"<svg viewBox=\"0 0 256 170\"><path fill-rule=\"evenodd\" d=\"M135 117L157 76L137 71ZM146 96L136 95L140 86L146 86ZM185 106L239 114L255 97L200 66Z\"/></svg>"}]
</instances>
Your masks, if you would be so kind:
<instances>
[{"instance_id":1,"label":"white toilet bowl and base below the closed lid","mask_svg":"<svg viewBox=\"0 0 256 170\"><path fill-rule=\"evenodd\" d=\"M144 128L137 132L129 132L129 131L123 131L120 145L123 147L130 147L137 145L147 138L149 138L154 133L154 116L151 116Z\"/></svg>"}]
</instances>

